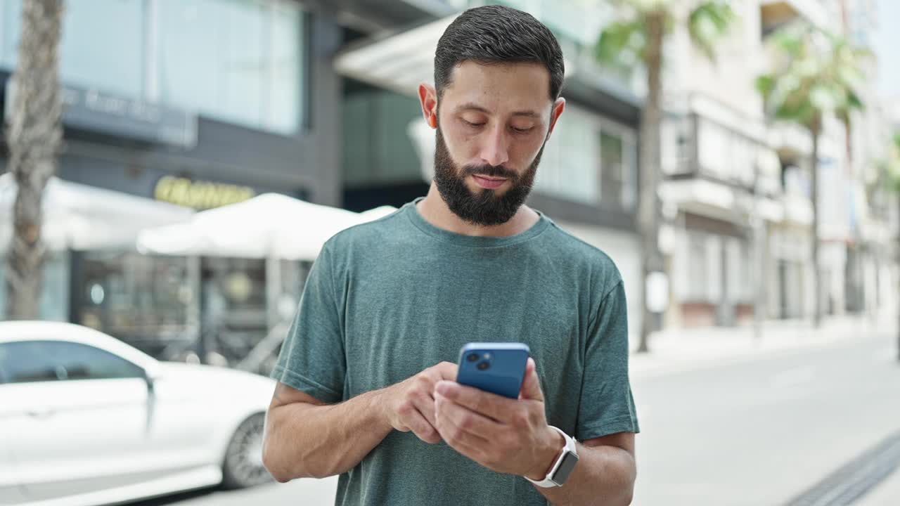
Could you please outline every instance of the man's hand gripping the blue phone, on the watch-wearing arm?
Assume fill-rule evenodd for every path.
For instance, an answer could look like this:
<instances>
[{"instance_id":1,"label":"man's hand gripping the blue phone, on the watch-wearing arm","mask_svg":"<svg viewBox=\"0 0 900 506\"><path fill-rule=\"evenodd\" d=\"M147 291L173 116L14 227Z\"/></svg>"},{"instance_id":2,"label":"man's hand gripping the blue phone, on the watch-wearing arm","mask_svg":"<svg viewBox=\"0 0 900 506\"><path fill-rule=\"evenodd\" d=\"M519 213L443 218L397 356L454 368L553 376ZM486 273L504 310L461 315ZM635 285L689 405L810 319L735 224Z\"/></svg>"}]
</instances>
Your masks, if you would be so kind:
<instances>
[{"instance_id":1,"label":"man's hand gripping the blue phone, on the watch-wearing arm","mask_svg":"<svg viewBox=\"0 0 900 506\"><path fill-rule=\"evenodd\" d=\"M441 381L435 407L435 427L446 443L498 473L543 480L565 446L547 425L544 393L531 358L518 400Z\"/></svg>"}]
</instances>

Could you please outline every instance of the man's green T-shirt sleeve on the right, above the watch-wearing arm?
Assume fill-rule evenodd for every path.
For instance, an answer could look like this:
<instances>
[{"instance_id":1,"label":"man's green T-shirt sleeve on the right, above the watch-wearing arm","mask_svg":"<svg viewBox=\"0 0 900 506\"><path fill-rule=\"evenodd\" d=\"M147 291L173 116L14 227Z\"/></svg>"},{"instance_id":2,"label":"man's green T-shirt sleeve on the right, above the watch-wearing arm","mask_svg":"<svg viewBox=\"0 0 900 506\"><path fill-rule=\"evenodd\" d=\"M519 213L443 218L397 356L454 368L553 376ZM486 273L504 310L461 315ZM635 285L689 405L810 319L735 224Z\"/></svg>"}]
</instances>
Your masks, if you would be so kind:
<instances>
[{"instance_id":1,"label":"man's green T-shirt sleeve on the right, above the watch-wearing arm","mask_svg":"<svg viewBox=\"0 0 900 506\"><path fill-rule=\"evenodd\" d=\"M576 438L639 432L628 380L628 319L619 281L600 302L590 325L581 384Z\"/></svg>"}]
</instances>

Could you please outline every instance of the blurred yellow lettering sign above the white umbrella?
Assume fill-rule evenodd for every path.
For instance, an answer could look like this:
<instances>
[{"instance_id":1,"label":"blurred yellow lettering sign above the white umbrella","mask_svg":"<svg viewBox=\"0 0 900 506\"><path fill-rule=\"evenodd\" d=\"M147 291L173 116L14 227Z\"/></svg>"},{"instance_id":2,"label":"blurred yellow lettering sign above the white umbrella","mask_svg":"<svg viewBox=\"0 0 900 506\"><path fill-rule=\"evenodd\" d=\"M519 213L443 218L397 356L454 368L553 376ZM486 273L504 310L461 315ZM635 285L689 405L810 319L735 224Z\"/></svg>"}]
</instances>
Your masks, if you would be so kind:
<instances>
[{"instance_id":1,"label":"blurred yellow lettering sign above the white umbrella","mask_svg":"<svg viewBox=\"0 0 900 506\"><path fill-rule=\"evenodd\" d=\"M193 209L211 209L229 203L244 202L256 194L256 190L249 186L194 181L187 177L176 176L161 177L153 189L153 198L156 200Z\"/></svg>"}]
</instances>

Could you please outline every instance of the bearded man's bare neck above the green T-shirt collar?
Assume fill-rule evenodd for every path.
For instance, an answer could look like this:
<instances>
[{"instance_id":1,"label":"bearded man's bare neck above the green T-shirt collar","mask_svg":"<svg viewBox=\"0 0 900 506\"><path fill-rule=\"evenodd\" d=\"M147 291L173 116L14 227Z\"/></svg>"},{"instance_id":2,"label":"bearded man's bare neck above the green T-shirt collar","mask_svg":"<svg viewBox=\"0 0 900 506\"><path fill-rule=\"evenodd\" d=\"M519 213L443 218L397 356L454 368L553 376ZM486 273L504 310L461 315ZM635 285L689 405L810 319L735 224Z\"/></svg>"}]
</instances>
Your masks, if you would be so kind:
<instances>
[{"instance_id":1,"label":"bearded man's bare neck above the green T-shirt collar","mask_svg":"<svg viewBox=\"0 0 900 506\"><path fill-rule=\"evenodd\" d=\"M522 205L506 223L490 226L473 225L450 211L434 182L428 189L428 195L417 204L416 208L422 218L439 229L476 237L509 237L530 229L540 220L537 212L527 205Z\"/></svg>"}]
</instances>

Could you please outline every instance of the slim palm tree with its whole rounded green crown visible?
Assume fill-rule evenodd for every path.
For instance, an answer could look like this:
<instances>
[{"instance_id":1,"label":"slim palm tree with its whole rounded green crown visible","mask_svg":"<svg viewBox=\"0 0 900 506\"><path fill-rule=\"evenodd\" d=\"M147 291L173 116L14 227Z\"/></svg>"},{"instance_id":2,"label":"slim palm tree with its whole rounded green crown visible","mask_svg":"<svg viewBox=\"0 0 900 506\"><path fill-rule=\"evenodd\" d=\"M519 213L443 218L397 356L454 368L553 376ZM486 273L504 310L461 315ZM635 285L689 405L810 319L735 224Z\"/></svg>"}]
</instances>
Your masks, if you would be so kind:
<instances>
[{"instance_id":1,"label":"slim palm tree with its whole rounded green crown visible","mask_svg":"<svg viewBox=\"0 0 900 506\"><path fill-rule=\"evenodd\" d=\"M778 120L794 122L809 131L813 140L813 323L822 322L819 298L819 137L824 118L836 115L849 124L850 113L862 109L856 92L862 80L860 59L867 51L851 46L845 39L808 25L791 25L772 35L779 61L772 73L757 78L756 86L766 100L767 110Z\"/></svg>"}]
</instances>

